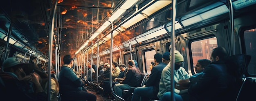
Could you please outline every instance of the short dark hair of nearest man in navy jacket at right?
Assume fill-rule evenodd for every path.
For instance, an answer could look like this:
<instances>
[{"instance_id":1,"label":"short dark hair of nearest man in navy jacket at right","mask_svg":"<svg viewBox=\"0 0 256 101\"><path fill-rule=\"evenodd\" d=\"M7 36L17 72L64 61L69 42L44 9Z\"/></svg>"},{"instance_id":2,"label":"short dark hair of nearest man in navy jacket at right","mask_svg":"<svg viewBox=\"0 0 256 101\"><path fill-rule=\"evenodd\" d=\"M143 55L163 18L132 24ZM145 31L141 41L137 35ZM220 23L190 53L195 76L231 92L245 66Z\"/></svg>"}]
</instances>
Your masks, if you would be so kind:
<instances>
[{"instance_id":1,"label":"short dark hair of nearest man in navy jacket at right","mask_svg":"<svg viewBox=\"0 0 256 101\"><path fill-rule=\"evenodd\" d=\"M227 50L224 47L217 47L212 50L211 56L213 58L216 58L216 56L219 57L219 60L226 61L229 60L229 54Z\"/></svg>"}]
</instances>

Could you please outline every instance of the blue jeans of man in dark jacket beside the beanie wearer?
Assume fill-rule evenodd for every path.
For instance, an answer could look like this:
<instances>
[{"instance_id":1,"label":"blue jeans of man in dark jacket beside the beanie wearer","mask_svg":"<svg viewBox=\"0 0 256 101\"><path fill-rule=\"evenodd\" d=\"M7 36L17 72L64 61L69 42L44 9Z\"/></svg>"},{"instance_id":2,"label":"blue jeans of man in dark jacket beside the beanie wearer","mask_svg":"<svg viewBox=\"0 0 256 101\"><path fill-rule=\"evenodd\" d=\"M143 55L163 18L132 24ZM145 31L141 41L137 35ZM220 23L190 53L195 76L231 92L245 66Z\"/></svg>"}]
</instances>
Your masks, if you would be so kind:
<instances>
[{"instance_id":1,"label":"blue jeans of man in dark jacket beside the beanie wearer","mask_svg":"<svg viewBox=\"0 0 256 101\"><path fill-rule=\"evenodd\" d=\"M136 88L133 92L131 101L139 101L140 97L141 101L148 101L149 98L158 99L153 93L153 86Z\"/></svg>"}]
</instances>

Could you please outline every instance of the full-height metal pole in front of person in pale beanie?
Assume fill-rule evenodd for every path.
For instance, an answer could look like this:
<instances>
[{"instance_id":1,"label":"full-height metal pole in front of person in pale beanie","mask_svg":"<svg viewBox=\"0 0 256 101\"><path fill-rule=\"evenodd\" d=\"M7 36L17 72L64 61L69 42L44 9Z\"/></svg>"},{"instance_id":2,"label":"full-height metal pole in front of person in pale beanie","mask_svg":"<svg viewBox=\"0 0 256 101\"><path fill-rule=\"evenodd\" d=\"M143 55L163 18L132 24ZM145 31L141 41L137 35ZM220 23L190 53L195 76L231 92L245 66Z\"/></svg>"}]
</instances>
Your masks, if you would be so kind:
<instances>
[{"instance_id":1,"label":"full-height metal pole in front of person in pale beanie","mask_svg":"<svg viewBox=\"0 0 256 101\"><path fill-rule=\"evenodd\" d=\"M174 57L174 47L175 47L175 20L176 20L176 0L173 0L172 3L173 6L173 18L172 18L172 35L171 35L171 39L172 39L172 49L171 49L171 100L175 101L174 98L174 67L175 67L175 57Z\"/></svg>"}]
</instances>

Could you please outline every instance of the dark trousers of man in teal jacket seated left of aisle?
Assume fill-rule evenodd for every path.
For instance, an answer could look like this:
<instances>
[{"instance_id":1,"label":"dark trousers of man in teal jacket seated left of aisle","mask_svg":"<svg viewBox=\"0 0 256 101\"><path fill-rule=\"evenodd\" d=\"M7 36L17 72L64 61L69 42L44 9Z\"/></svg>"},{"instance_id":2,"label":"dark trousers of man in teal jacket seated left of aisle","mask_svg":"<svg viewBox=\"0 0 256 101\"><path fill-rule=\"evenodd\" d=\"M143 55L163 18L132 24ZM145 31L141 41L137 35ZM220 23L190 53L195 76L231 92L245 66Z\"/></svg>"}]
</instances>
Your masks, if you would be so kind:
<instances>
[{"instance_id":1,"label":"dark trousers of man in teal jacket seated left of aisle","mask_svg":"<svg viewBox=\"0 0 256 101\"><path fill-rule=\"evenodd\" d=\"M62 92L62 101L96 101L97 97L94 94L85 91Z\"/></svg>"}]
</instances>

